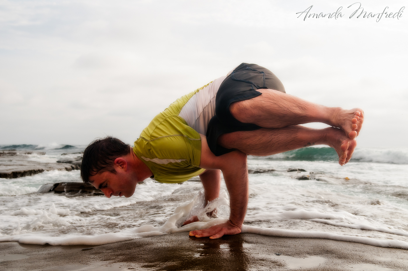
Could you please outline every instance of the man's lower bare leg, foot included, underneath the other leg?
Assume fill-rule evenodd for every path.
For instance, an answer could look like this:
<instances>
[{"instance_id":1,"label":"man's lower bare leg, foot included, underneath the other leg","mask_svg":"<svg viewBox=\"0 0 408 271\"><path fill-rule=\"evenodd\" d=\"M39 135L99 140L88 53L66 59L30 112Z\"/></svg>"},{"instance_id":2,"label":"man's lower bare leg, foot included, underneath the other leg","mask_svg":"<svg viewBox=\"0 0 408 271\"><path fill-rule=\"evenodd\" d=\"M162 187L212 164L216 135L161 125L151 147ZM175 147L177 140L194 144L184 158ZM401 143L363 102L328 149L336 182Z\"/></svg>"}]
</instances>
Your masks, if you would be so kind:
<instances>
[{"instance_id":1,"label":"man's lower bare leg, foot included, underneath the other leg","mask_svg":"<svg viewBox=\"0 0 408 271\"><path fill-rule=\"evenodd\" d=\"M301 125L224 133L217 142L224 148L259 156L324 144L336 150L340 165L350 161L356 147L356 141L344 135L341 129L312 129Z\"/></svg>"}]
</instances>

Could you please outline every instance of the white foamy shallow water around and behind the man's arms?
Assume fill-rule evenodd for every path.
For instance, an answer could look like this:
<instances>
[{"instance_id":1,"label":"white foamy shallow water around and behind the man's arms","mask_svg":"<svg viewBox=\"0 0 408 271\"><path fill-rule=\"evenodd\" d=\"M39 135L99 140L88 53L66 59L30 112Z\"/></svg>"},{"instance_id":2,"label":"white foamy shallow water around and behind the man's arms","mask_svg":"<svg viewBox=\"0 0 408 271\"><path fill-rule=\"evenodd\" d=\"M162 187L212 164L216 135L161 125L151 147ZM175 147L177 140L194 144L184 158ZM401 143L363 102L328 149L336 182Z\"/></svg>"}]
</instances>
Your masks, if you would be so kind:
<instances>
[{"instance_id":1,"label":"white foamy shallow water around and behind the man's arms","mask_svg":"<svg viewBox=\"0 0 408 271\"><path fill-rule=\"evenodd\" d=\"M54 161L62 151L30 159ZM359 162L344 167L335 161L249 157L248 169L264 173L249 174L250 199L242 231L408 249L406 152L362 149L356 154ZM80 182L79 171L0 179L0 241L106 244L203 229L228 218L223 193L212 207L224 213L206 216L197 181L145 180L131 198L35 193L44 183L72 181ZM181 227L191 215L200 222Z\"/></svg>"}]
</instances>

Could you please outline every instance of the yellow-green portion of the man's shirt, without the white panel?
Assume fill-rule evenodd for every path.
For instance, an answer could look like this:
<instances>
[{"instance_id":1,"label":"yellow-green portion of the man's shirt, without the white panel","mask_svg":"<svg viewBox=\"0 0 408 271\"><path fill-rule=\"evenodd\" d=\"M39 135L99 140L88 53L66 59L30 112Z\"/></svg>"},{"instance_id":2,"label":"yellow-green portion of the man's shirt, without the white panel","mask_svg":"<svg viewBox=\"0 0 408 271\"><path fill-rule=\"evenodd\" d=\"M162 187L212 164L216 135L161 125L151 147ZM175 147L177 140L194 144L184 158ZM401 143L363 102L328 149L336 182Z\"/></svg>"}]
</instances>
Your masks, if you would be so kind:
<instances>
[{"instance_id":1,"label":"yellow-green portion of the man's shirt, without the white panel","mask_svg":"<svg viewBox=\"0 0 408 271\"><path fill-rule=\"evenodd\" d=\"M155 116L135 141L134 153L149 167L158 182L184 182L205 170L200 168L200 134L178 116L199 90L177 99Z\"/></svg>"}]
</instances>

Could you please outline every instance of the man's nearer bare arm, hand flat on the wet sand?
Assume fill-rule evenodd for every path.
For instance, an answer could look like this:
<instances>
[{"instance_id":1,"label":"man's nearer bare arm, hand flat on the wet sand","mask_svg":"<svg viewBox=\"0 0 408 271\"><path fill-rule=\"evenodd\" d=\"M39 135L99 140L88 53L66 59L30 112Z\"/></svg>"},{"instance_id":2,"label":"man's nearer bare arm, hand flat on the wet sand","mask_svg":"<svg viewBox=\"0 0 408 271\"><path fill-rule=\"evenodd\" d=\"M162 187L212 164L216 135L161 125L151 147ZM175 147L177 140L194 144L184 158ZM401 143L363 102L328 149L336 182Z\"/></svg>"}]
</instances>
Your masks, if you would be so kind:
<instances>
[{"instance_id":1,"label":"man's nearer bare arm, hand flat on the wet sand","mask_svg":"<svg viewBox=\"0 0 408 271\"><path fill-rule=\"evenodd\" d=\"M195 230L190 236L220 238L224 234L241 232L246 206L248 204L248 167L247 155L241 151L232 151L215 156L208 147L205 136L201 136L200 167L204 169L221 169L228 192L230 194L231 215L226 223L208 229Z\"/></svg>"}]
</instances>

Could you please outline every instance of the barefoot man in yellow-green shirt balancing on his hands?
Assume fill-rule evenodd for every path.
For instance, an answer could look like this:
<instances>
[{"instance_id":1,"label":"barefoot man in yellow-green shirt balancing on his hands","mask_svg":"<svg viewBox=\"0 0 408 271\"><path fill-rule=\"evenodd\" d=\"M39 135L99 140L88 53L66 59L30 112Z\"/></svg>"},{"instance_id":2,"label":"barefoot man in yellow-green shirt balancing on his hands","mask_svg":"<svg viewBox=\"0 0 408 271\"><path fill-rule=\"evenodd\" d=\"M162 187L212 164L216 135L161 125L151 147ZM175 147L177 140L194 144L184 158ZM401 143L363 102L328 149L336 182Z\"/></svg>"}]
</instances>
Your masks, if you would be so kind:
<instances>
[{"instance_id":1,"label":"barefoot man in yellow-green shirt balancing on his hands","mask_svg":"<svg viewBox=\"0 0 408 271\"><path fill-rule=\"evenodd\" d=\"M130 197L137 182L149 177L177 183L200 175L208 202L219 195L222 171L230 194L229 220L190 232L220 238L241 232L248 203L247 155L325 144L336 150L344 165L356 147L363 120L361 109L324 107L290 96L271 71L242 63L159 113L133 148L112 137L89 144L81 177L110 198ZM308 122L332 127L299 125Z\"/></svg>"}]
</instances>

